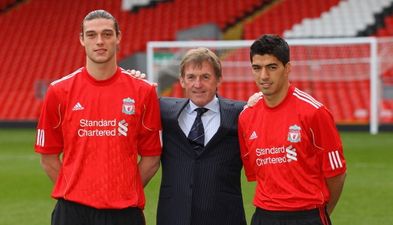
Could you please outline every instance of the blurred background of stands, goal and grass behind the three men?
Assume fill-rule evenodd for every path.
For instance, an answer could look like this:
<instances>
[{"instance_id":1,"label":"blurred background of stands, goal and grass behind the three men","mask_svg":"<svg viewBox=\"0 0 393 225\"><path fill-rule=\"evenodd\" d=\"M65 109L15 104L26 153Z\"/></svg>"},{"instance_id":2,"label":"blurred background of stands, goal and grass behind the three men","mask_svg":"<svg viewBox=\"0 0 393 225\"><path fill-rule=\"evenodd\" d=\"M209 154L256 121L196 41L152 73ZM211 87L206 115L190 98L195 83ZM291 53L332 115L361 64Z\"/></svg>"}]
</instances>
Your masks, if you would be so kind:
<instances>
[{"instance_id":1,"label":"blurred background of stands, goal and grass behind the three men","mask_svg":"<svg viewBox=\"0 0 393 225\"><path fill-rule=\"evenodd\" d=\"M178 62L197 43L223 62L219 94L246 100L257 91L249 43L286 38L291 82L325 104L342 131L350 173L333 221L393 224L393 0L0 0L1 225L49 224L52 184L33 152L34 127L48 85L84 66L80 24L95 9L120 24L120 66L149 71L161 96L182 96ZM371 123L378 135L369 135ZM146 190L148 224L159 179ZM243 183L249 221L253 184Z\"/></svg>"}]
</instances>

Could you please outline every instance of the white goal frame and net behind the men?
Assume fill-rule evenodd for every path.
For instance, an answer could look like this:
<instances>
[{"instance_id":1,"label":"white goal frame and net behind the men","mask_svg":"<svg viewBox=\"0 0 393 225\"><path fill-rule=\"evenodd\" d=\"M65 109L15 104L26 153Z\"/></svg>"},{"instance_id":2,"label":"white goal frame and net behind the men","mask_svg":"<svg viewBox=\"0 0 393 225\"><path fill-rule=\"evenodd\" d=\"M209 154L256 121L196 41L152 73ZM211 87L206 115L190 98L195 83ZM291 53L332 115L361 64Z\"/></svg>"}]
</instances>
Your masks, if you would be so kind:
<instances>
[{"instance_id":1,"label":"white goal frame and net behind the men","mask_svg":"<svg viewBox=\"0 0 393 225\"><path fill-rule=\"evenodd\" d=\"M247 100L257 92L251 74L249 47L253 41L149 42L148 79L158 83L161 96L183 97L179 65L187 50L207 47L221 59L220 96ZM290 81L311 94L332 112L337 124L393 123L392 39L289 39Z\"/></svg>"}]
</instances>

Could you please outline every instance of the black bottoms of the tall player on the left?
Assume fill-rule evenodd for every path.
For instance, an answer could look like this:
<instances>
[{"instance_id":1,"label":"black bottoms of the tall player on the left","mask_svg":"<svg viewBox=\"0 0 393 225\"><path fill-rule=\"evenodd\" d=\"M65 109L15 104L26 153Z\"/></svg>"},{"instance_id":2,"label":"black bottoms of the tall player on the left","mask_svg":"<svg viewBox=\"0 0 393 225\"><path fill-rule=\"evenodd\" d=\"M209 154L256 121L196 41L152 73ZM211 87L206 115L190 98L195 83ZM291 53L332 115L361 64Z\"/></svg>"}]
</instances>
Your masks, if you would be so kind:
<instances>
[{"instance_id":1,"label":"black bottoms of the tall player on the left","mask_svg":"<svg viewBox=\"0 0 393 225\"><path fill-rule=\"evenodd\" d=\"M59 199L52 213L52 225L146 225L139 208L96 209Z\"/></svg>"}]
</instances>

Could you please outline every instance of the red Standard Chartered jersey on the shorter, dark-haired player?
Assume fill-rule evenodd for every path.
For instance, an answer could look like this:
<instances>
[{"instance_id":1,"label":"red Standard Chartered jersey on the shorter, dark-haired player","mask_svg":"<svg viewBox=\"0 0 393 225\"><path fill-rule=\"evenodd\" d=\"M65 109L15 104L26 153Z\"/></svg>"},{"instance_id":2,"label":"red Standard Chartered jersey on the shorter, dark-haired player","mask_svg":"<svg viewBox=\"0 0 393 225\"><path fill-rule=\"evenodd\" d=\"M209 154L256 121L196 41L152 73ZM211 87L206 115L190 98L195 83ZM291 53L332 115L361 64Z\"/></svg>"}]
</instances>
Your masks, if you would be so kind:
<instances>
[{"instance_id":1,"label":"red Standard Chartered jersey on the shorter, dark-haired player","mask_svg":"<svg viewBox=\"0 0 393 225\"><path fill-rule=\"evenodd\" d=\"M262 100L239 117L244 169L256 180L254 205L294 211L329 200L325 178L346 171L341 139L330 112L290 86L286 98L269 108Z\"/></svg>"}]
</instances>

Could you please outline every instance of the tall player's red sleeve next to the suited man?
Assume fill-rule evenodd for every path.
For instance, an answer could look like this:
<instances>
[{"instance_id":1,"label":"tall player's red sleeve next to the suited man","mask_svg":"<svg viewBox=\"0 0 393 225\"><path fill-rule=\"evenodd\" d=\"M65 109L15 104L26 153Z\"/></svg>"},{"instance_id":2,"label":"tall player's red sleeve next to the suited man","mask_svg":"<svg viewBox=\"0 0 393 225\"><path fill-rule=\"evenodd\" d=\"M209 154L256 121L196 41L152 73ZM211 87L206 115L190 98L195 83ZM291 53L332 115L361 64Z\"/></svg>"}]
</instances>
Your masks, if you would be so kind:
<instances>
[{"instance_id":1,"label":"tall player's red sleeve next to the suited man","mask_svg":"<svg viewBox=\"0 0 393 225\"><path fill-rule=\"evenodd\" d=\"M143 156L161 155L161 116L155 87L150 86L143 107L138 152Z\"/></svg>"}]
</instances>

